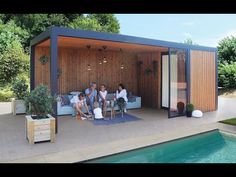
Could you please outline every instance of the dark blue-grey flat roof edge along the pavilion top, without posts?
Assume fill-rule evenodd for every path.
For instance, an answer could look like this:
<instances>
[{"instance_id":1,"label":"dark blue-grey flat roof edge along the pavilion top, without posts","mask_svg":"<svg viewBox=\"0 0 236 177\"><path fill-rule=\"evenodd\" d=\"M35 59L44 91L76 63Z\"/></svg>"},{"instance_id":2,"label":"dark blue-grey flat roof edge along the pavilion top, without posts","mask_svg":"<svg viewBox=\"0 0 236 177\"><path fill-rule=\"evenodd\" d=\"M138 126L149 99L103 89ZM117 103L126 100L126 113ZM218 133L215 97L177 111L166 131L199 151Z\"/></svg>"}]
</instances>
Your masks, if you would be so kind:
<instances>
[{"instance_id":1,"label":"dark blue-grey flat roof edge along the pavilion top, without posts","mask_svg":"<svg viewBox=\"0 0 236 177\"><path fill-rule=\"evenodd\" d=\"M112 34L112 33L105 33L105 32L70 29L70 28L64 28L64 27L48 28L48 30L36 36L30 42L30 45L35 46L55 36L90 39L90 40L95 40L95 41L100 40L100 41L107 41L107 42L118 42L118 43L124 43L124 44L129 44L129 45L141 45L142 47L152 46L152 47L161 47L161 48L181 48L181 49L203 50L203 51L212 51L212 52L217 51L217 48L213 48L213 47L189 45L189 44L184 44L184 43L168 42L168 41L162 41L162 40L127 36L127 35L121 35L121 34Z\"/></svg>"}]
</instances>

